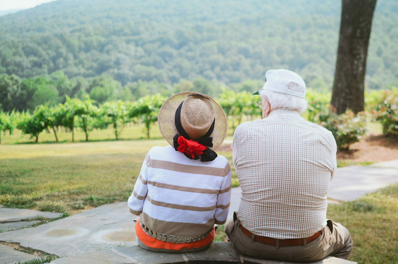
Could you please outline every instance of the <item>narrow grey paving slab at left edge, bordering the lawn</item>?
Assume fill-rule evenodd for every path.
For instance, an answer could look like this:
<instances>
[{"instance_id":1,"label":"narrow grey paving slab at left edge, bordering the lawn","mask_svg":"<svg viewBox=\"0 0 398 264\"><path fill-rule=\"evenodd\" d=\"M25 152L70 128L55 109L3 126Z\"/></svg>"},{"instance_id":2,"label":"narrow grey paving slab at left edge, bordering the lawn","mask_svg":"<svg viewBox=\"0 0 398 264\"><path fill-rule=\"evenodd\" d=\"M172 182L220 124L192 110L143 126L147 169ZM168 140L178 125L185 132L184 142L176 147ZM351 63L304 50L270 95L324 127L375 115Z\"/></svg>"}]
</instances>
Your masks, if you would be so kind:
<instances>
[{"instance_id":1,"label":"narrow grey paving slab at left edge, bordering the lawn","mask_svg":"<svg viewBox=\"0 0 398 264\"><path fill-rule=\"evenodd\" d=\"M29 210L29 209L19 209L19 208L7 208L5 206L0 206L0 223L1 222L16 222L25 220L27 218L34 218L37 215L54 219L60 217L62 213L51 213L51 212L43 212L37 210Z\"/></svg>"}]
</instances>

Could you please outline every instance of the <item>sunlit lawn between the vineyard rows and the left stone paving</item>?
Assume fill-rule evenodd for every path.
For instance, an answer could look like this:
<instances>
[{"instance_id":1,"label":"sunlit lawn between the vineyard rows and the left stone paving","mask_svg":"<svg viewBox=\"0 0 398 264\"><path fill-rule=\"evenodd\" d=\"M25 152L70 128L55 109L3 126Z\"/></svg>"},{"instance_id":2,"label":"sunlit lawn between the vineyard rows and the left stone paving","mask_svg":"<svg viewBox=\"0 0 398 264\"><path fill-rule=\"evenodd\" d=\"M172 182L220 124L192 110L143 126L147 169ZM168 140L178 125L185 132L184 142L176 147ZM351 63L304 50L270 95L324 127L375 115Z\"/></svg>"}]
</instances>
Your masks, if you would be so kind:
<instances>
[{"instance_id":1,"label":"sunlit lawn between the vineyard rows and the left stone paving","mask_svg":"<svg viewBox=\"0 0 398 264\"><path fill-rule=\"evenodd\" d=\"M2 145L0 204L74 212L125 201L146 153L161 140ZM232 164L231 152L220 152ZM236 172L233 170L235 185Z\"/></svg>"}]
</instances>

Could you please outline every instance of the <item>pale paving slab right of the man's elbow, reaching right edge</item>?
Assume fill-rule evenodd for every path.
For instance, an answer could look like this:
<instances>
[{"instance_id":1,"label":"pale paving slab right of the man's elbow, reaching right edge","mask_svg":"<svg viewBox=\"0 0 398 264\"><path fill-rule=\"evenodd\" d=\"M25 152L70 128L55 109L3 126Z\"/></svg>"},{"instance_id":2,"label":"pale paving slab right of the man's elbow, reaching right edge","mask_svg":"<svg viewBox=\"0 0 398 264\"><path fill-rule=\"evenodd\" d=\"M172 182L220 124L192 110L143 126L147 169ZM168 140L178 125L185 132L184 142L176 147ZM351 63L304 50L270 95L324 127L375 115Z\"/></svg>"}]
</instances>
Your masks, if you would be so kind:
<instances>
[{"instance_id":1,"label":"pale paving slab right of the man's elbow, reaching right edge","mask_svg":"<svg viewBox=\"0 0 398 264\"><path fill-rule=\"evenodd\" d=\"M398 183L398 170L362 166L338 168L328 192L328 198L353 201L390 184Z\"/></svg>"}]
</instances>

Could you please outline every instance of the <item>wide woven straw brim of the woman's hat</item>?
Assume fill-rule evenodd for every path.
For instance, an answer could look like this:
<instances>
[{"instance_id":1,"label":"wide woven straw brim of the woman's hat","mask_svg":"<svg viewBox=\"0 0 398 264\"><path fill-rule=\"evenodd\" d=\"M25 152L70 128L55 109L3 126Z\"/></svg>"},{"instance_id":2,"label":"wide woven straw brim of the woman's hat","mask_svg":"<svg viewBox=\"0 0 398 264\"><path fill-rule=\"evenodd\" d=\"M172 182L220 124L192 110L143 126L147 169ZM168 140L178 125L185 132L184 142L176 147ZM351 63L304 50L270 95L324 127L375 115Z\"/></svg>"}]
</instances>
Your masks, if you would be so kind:
<instances>
[{"instance_id":1,"label":"wide woven straw brim of the woman's hat","mask_svg":"<svg viewBox=\"0 0 398 264\"><path fill-rule=\"evenodd\" d=\"M174 147L174 136L178 134L175 125L175 115L178 106L183 102L188 96L193 94L199 94L197 92L182 92L170 96L163 104L159 110L158 115L158 127L160 133L166 139L166 141ZM211 137L213 137L213 147L209 147L211 150L216 150L220 147L222 142L226 137L226 131L228 130L227 119L222 110L221 106L210 96L205 94L200 94L205 96L210 100L214 106L215 110L215 125Z\"/></svg>"}]
</instances>

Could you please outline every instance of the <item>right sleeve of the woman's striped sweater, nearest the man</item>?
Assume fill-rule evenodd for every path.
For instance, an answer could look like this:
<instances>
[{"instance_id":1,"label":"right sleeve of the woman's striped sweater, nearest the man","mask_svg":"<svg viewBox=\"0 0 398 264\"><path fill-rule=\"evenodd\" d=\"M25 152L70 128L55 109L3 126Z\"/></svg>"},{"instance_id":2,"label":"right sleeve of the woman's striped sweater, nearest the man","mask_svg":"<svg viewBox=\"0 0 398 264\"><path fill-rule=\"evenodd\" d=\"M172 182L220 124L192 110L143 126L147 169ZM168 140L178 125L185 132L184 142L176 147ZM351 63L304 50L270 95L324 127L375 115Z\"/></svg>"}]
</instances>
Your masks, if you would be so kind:
<instances>
[{"instance_id":1,"label":"right sleeve of the woman's striped sweater, nearest the man","mask_svg":"<svg viewBox=\"0 0 398 264\"><path fill-rule=\"evenodd\" d=\"M228 160L226 160L225 174L217 196L217 207L214 213L215 224L217 225L225 223L231 204L231 166Z\"/></svg>"}]
</instances>

